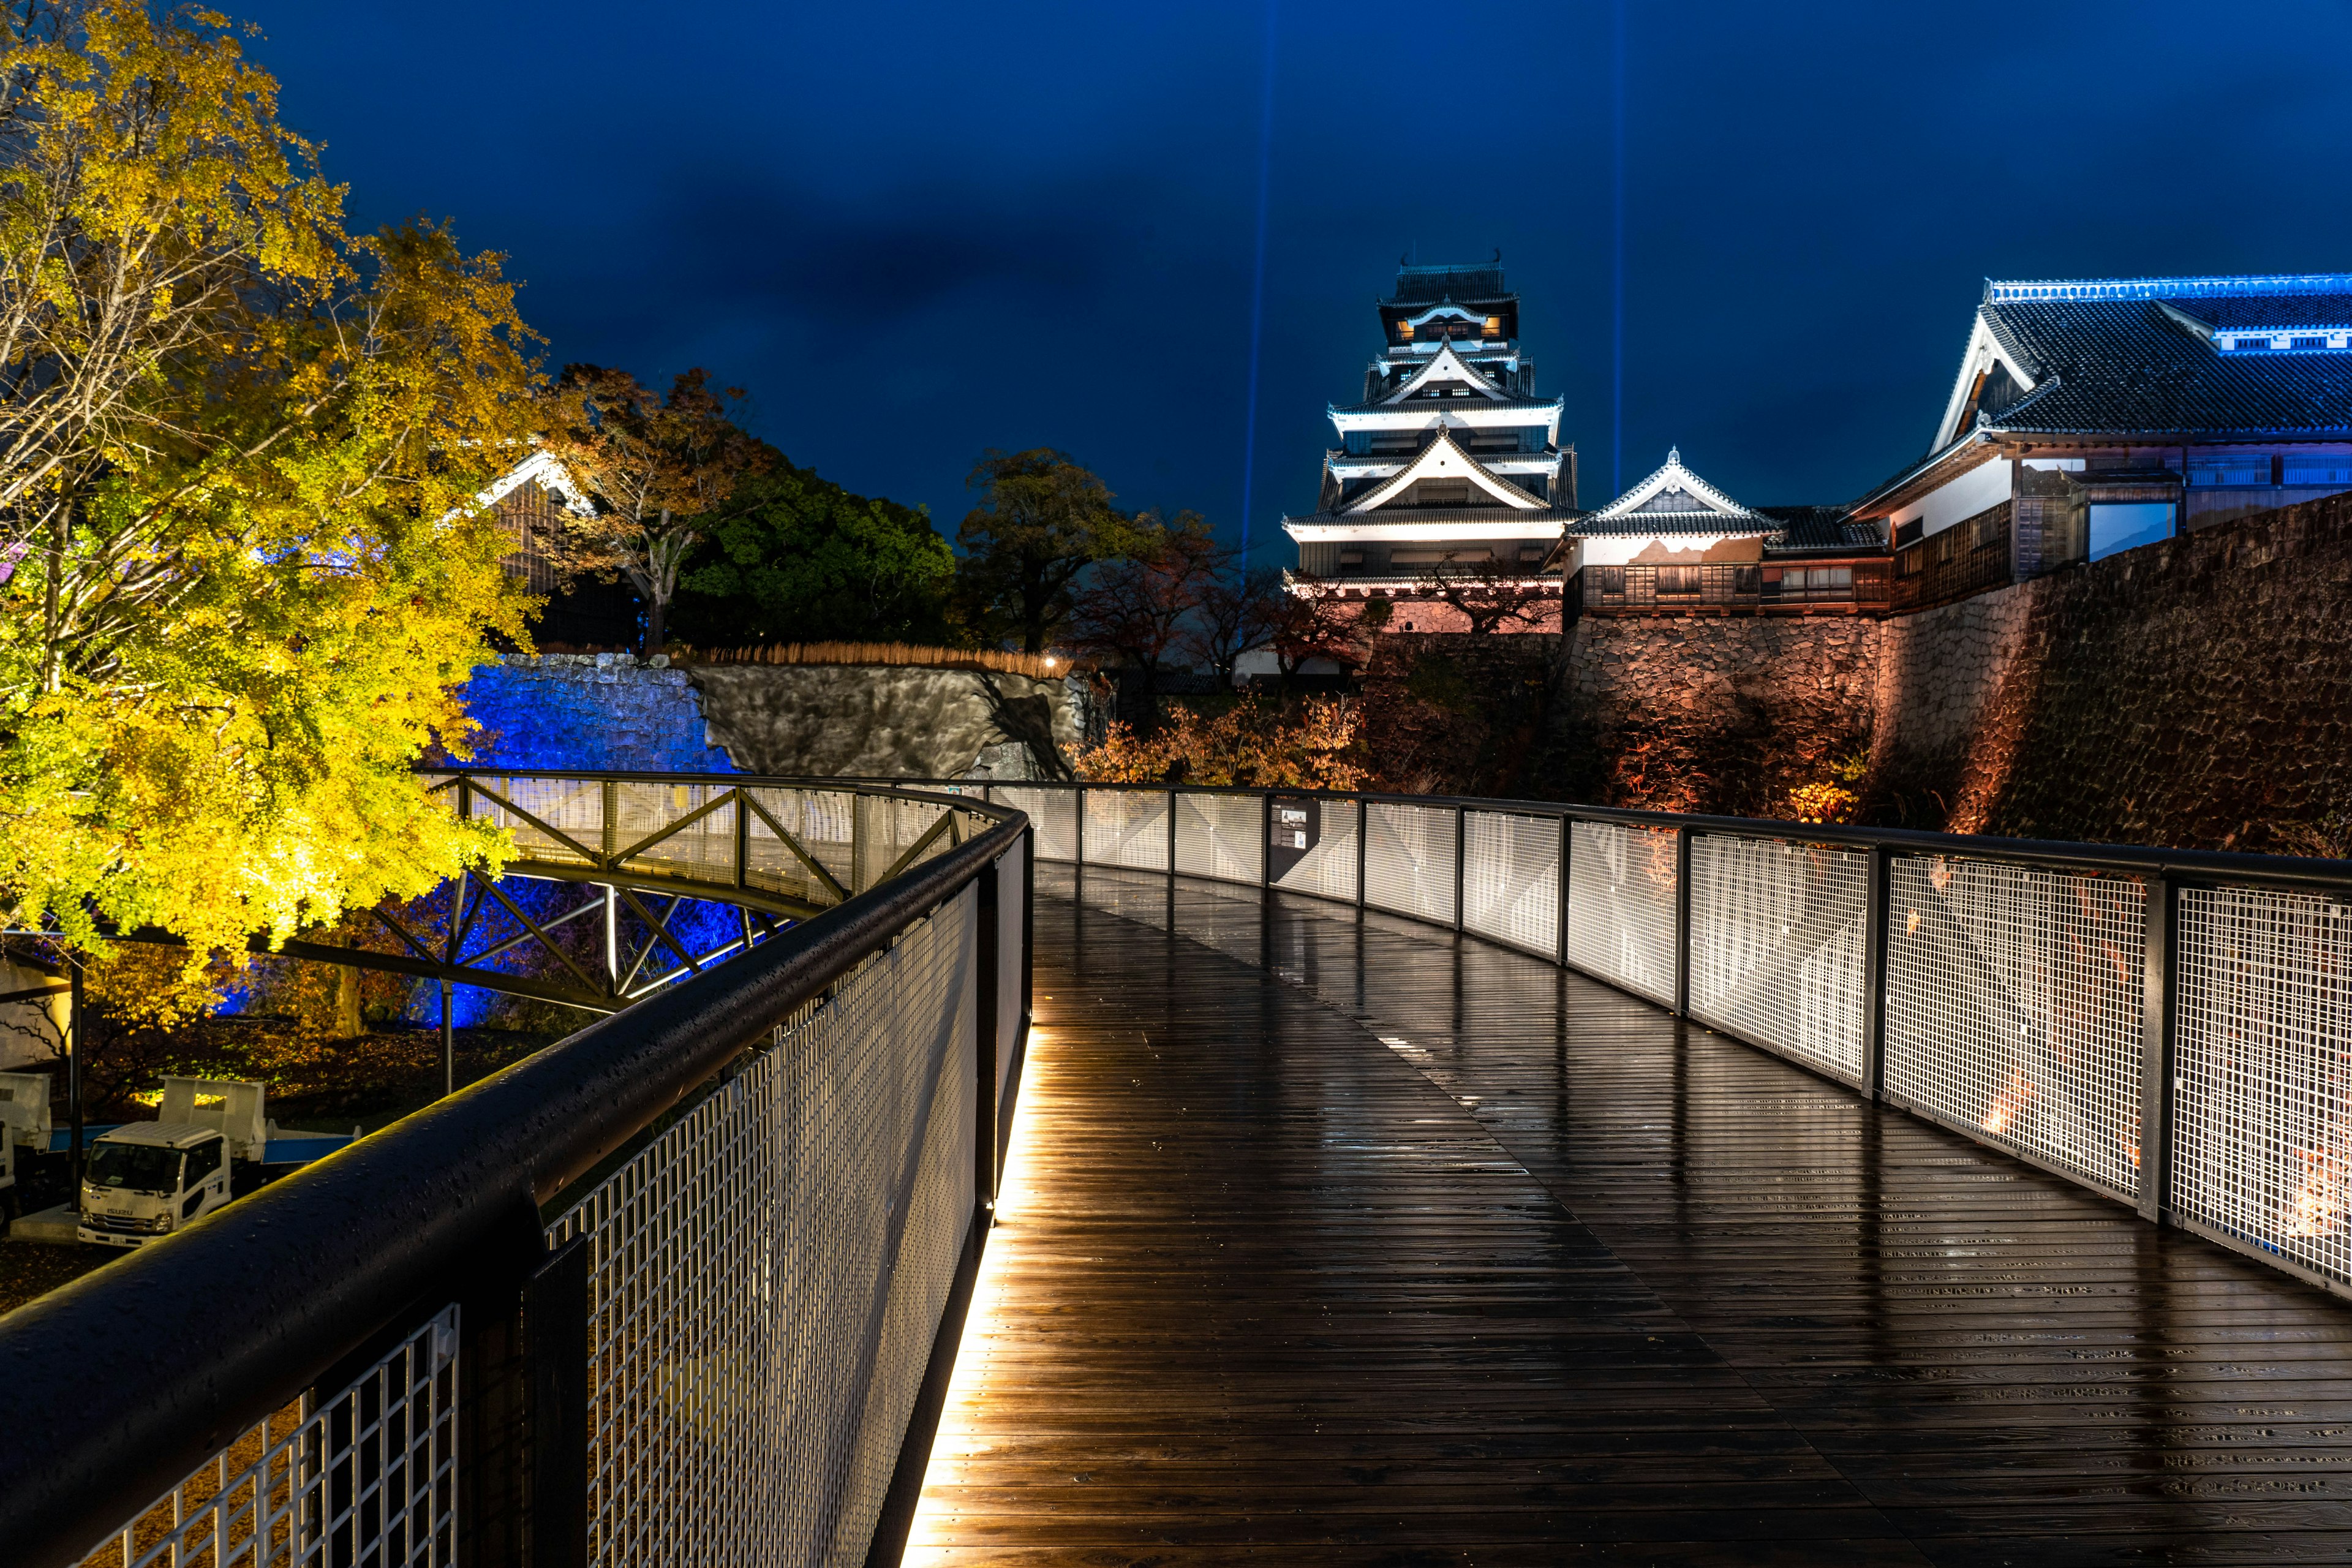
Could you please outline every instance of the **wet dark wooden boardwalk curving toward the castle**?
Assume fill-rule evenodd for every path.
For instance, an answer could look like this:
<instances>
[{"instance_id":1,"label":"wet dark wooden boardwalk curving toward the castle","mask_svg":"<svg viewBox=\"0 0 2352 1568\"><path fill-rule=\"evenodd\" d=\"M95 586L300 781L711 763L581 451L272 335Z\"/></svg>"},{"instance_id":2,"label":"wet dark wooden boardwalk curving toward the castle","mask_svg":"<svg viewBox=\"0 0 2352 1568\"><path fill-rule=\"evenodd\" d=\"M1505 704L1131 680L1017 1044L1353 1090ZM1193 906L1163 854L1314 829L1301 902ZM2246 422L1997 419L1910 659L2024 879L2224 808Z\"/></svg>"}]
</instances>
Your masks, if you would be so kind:
<instances>
[{"instance_id":1,"label":"wet dark wooden boardwalk curving toward the castle","mask_svg":"<svg viewBox=\"0 0 2352 1568\"><path fill-rule=\"evenodd\" d=\"M2352 1561L2352 1307L1536 959L1068 891L910 1563Z\"/></svg>"}]
</instances>

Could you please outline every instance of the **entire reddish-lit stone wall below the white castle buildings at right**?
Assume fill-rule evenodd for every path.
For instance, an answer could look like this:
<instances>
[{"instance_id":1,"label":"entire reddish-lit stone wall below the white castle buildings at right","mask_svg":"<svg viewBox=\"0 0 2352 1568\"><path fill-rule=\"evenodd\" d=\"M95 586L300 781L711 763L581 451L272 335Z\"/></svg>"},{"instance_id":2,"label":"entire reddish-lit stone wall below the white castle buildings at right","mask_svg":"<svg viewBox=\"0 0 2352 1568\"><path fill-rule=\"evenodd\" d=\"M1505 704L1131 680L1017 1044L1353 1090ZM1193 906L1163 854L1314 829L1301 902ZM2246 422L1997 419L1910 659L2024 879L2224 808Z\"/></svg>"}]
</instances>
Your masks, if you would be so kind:
<instances>
[{"instance_id":1,"label":"entire reddish-lit stone wall below the white castle buildings at right","mask_svg":"<svg viewBox=\"0 0 2352 1568\"><path fill-rule=\"evenodd\" d=\"M1891 621L1588 618L1531 792L1785 816L1867 750L1879 825L2312 853L2352 813L2347 625L2352 496Z\"/></svg>"}]
</instances>

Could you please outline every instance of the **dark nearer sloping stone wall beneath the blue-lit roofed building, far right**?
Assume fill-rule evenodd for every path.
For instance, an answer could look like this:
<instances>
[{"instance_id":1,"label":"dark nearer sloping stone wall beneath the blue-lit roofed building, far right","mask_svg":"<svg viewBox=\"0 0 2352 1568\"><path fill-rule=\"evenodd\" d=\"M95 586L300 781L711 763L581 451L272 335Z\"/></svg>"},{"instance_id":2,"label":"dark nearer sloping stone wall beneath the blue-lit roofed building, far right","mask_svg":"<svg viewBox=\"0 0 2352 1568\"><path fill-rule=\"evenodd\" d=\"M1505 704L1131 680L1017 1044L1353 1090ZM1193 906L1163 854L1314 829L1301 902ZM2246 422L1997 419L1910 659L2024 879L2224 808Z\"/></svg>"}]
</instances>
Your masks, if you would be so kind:
<instances>
[{"instance_id":1,"label":"dark nearer sloping stone wall beneath the blue-lit roofed building, far right","mask_svg":"<svg viewBox=\"0 0 2352 1568\"><path fill-rule=\"evenodd\" d=\"M1872 813L2307 853L2352 809L2347 623L2352 496L1891 621Z\"/></svg>"}]
</instances>

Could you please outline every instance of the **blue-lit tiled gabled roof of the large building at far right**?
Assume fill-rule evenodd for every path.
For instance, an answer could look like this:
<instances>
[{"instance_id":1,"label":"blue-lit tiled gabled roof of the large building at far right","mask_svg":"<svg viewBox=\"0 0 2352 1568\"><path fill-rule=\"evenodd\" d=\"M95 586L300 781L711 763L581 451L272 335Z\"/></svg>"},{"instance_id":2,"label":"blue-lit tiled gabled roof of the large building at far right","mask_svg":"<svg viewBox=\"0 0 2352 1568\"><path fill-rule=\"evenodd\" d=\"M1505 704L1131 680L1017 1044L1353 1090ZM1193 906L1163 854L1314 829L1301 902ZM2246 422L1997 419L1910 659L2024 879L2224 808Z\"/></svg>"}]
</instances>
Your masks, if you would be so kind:
<instances>
[{"instance_id":1,"label":"blue-lit tiled gabled roof of the large building at far right","mask_svg":"<svg viewBox=\"0 0 2352 1568\"><path fill-rule=\"evenodd\" d=\"M2218 334L2352 324L2352 275L1987 282L1931 451L1978 421L1969 390L2004 364L2018 435L2352 435L2352 343L2249 353Z\"/></svg>"}]
</instances>

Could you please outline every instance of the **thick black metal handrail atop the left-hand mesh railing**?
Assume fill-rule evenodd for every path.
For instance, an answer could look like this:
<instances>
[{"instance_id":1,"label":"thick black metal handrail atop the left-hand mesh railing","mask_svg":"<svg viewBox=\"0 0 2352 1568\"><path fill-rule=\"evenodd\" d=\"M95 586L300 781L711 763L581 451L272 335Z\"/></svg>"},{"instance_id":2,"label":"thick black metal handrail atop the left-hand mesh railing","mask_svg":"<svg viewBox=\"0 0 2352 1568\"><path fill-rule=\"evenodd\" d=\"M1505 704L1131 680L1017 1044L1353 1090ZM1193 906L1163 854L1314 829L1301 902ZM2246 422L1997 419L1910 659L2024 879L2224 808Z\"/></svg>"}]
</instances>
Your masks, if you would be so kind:
<instances>
[{"instance_id":1,"label":"thick black metal handrail atop the left-hand mesh railing","mask_svg":"<svg viewBox=\"0 0 2352 1568\"><path fill-rule=\"evenodd\" d=\"M38 1434L0 1443L9 1563L80 1561L419 1305L510 1298L546 1258L543 1201L1021 842L1018 811L985 811L962 846L0 1319L0 1425Z\"/></svg>"}]
</instances>

